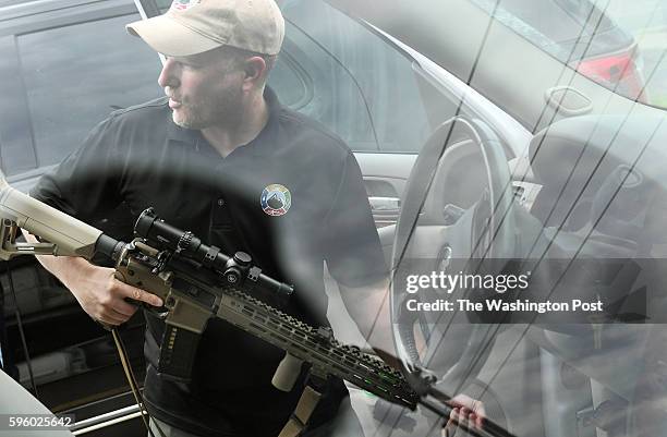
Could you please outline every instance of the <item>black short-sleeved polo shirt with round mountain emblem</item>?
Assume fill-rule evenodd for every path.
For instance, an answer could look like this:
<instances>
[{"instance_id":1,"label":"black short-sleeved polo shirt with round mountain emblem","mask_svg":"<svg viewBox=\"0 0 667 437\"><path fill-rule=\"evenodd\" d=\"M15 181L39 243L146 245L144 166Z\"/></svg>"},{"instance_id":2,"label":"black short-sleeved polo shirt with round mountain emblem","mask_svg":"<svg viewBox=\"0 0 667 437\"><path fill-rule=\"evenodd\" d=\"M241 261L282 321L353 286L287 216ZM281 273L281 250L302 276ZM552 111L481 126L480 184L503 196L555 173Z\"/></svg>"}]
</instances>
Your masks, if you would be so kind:
<instances>
[{"instance_id":1,"label":"black short-sleeved polo shirt with round mountain emblem","mask_svg":"<svg viewBox=\"0 0 667 437\"><path fill-rule=\"evenodd\" d=\"M113 112L31 195L118 239L130 239L136 217L154 207L228 254L250 253L295 286L283 311L325 325L324 262L339 283L373 283L386 275L379 240L349 148L270 89L265 99L266 126L226 158L198 131L175 125L166 99ZM156 417L202 435L277 435L300 396L270 384L281 351L211 320L184 386L155 372L162 331L147 314L145 398Z\"/></svg>"}]
</instances>

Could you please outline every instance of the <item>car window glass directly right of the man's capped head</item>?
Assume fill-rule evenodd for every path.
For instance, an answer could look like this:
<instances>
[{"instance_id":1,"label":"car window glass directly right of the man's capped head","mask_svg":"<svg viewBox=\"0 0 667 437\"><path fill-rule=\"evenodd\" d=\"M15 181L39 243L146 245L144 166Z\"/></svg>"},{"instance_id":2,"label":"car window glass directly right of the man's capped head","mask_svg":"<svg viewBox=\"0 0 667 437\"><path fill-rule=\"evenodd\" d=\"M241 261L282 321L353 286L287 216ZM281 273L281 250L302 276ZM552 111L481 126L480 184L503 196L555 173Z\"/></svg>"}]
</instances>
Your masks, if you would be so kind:
<instances>
[{"instance_id":1,"label":"car window glass directly right of the man's capped head","mask_svg":"<svg viewBox=\"0 0 667 437\"><path fill-rule=\"evenodd\" d=\"M302 50L294 58L326 78L314 81L313 102L302 111L354 150L417 151L429 125L412 61L324 1L286 1L282 12L287 38Z\"/></svg>"}]
</instances>

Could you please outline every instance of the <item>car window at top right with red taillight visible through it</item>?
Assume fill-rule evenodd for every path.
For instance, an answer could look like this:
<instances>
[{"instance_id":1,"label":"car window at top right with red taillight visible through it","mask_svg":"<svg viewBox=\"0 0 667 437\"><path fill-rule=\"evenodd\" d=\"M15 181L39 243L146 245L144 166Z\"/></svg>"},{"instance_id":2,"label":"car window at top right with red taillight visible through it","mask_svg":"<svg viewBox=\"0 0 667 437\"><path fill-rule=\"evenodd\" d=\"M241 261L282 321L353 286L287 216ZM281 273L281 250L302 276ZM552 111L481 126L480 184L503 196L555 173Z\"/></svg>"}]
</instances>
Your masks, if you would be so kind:
<instances>
[{"instance_id":1,"label":"car window at top right with red taillight visible through it","mask_svg":"<svg viewBox=\"0 0 667 437\"><path fill-rule=\"evenodd\" d=\"M667 107L660 0L471 0L563 64L615 93Z\"/></svg>"}]
</instances>

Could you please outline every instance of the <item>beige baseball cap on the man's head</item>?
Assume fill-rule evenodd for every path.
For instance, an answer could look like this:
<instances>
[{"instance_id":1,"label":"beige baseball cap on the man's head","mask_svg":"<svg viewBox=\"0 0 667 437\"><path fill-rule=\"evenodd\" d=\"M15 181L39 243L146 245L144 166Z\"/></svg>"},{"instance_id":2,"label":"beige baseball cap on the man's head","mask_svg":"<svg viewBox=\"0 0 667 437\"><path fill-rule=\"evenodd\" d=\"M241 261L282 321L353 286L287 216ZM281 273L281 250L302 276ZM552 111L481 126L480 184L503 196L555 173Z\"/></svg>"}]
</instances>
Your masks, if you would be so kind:
<instances>
[{"instance_id":1,"label":"beige baseball cap on the man's head","mask_svg":"<svg viewBox=\"0 0 667 437\"><path fill-rule=\"evenodd\" d=\"M274 0L173 0L163 15L130 23L131 35L174 57L232 46L277 54L284 20Z\"/></svg>"}]
</instances>

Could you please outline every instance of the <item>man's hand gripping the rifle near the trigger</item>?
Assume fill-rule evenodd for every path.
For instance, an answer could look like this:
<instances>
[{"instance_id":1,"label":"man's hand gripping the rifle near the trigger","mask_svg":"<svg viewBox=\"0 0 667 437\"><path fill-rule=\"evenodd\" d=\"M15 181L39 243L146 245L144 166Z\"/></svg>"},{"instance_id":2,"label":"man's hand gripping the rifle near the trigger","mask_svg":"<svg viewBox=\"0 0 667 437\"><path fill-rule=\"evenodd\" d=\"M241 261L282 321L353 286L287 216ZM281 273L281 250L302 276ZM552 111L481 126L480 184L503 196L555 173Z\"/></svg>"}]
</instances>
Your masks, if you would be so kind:
<instances>
[{"instance_id":1,"label":"man's hand gripping the rifle near the trigger","mask_svg":"<svg viewBox=\"0 0 667 437\"><path fill-rule=\"evenodd\" d=\"M116 279L113 277L116 270L112 268L92 264L77 267L61 280L74 294L82 308L95 320L113 326L128 321L137 306L129 304L125 298L155 306L162 305L162 300L157 295Z\"/></svg>"}]
</instances>

